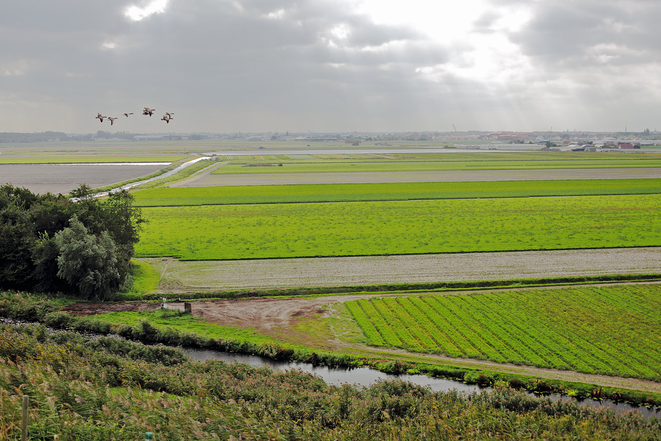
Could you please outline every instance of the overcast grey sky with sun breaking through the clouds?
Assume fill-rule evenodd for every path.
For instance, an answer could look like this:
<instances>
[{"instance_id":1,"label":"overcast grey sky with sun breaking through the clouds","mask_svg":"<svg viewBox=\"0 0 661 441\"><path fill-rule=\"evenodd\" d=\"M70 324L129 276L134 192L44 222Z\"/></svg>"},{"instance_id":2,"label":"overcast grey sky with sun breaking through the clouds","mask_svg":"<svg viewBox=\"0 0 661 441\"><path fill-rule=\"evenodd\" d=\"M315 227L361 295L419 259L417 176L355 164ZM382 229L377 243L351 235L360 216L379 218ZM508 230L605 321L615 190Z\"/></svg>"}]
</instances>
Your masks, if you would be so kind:
<instances>
[{"instance_id":1,"label":"overcast grey sky with sun breaking through the clouds","mask_svg":"<svg viewBox=\"0 0 661 441\"><path fill-rule=\"evenodd\" d=\"M661 130L658 0L0 0L0 11L0 132Z\"/></svg>"}]
</instances>

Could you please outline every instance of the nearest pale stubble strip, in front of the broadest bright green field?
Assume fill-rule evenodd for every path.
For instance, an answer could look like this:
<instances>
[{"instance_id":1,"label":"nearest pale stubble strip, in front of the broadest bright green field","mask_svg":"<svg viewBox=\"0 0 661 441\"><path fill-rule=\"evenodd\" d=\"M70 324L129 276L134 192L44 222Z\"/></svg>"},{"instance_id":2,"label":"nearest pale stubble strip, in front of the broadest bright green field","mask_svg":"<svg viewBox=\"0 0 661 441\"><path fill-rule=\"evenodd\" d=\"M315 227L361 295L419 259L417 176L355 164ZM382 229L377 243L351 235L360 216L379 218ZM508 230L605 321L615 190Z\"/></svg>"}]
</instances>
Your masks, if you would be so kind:
<instances>
[{"instance_id":1,"label":"nearest pale stubble strip, in front of the broadest bright green field","mask_svg":"<svg viewBox=\"0 0 661 441\"><path fill-rule=\"evenodd\" d=\"M151 262L163 292L661 272L661 248Z\"/></svg>"}]
</instances>

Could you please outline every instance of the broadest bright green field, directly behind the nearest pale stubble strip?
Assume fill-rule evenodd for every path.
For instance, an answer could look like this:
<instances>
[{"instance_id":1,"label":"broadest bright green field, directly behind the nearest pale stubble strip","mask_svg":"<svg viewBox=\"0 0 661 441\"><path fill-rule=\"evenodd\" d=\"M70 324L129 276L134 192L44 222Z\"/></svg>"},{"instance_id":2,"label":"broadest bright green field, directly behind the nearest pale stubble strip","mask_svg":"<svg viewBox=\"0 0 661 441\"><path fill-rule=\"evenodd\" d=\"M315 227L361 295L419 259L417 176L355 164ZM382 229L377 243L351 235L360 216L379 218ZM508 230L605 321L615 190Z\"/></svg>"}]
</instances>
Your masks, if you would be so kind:
<instances>
[{"instance_id":1,"label":"broadest bright green field, directly behind the nearest pale stubble strip","mask_svg":"<svg viewBox=\"0 0 661 441\"><path fill-rule=\"evenodd\" d=\"M661 195L143 208L136 257L264 259L661 246Z\"/></svg>"}]
</instances>

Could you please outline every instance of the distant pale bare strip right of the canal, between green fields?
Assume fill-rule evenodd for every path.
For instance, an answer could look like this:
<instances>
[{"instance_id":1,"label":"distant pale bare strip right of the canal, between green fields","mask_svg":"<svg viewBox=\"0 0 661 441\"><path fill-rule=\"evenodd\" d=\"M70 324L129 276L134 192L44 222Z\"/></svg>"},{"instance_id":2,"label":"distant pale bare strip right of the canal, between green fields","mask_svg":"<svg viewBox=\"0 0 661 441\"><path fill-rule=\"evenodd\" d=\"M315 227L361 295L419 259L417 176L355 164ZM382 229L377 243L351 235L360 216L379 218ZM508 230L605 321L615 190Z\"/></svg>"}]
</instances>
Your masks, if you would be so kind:
<instances>
[{"instance_id":1,"label":"distant pale bare strip right of the canal, between green fields","mask_svg":"<svg viewBox=\"0 0 661 441\"><path fill-rule=\"evenodd\" d=\"M661 168L645 169L553 169L553 170L451 170L349 173L247 173L210 175L171 186L229 186L278 184L366 184L372 182L465 182L485 180L545 179L650 179L661 178Z\"/></svg>"}]
</instances>

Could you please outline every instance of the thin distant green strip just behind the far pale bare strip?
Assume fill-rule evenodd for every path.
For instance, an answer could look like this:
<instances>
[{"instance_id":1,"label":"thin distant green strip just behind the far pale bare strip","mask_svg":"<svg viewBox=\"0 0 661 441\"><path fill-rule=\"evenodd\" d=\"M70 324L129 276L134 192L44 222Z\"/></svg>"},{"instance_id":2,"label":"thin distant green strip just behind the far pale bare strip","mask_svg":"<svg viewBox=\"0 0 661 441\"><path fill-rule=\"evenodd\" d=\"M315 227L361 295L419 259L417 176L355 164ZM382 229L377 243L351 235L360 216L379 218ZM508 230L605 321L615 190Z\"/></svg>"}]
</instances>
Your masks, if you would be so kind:
<instances>
[{"instance_id":1,"label":"thin distant green strip just behind the far pale bare strip","mask_svg":"<svg viewBox=\"0 0 661 441\"><path fill-rule=\"evenodd\" d=\"M229 164L212 171L213 175L233 173L346 173L352 171L443 171L443 170L519 170L519 169L609 169L661 167L661 159L586 159L584 161L426 161L426 162L321 162L289 163L282 167L244 167Z\"/></svg>"}]
</instances>

